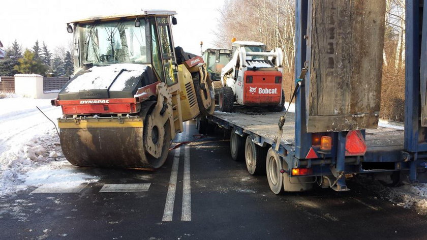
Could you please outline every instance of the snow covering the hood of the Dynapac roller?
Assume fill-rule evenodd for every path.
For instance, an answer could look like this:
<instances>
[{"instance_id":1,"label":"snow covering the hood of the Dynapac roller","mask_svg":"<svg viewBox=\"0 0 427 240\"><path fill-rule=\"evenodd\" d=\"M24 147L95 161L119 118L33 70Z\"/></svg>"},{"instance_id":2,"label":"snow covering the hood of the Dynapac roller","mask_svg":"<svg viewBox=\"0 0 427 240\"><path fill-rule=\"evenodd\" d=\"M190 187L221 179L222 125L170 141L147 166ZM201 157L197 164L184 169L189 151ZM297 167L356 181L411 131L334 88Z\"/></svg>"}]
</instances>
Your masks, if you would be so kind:
<instances>
[{"instance_id":1,"label":"snow covering the hood of the Dynapac roller","mask_svg":"<svg viewBox=\"0 0 427 240\"><path fill-rule=\"evenodd\" d=\"M114 64L100 67L95 66L90 68L87 73L77 76L75 79L73 79L65 88L65 92L75 93L90 89L107 89L117 74L123 69L127 70L124 72L126 76L140 76L145 71L145 66L140 64ZM124 80L127 79L124 77L122 81L119 80L118 85L117 87L114 87L114 90L118 91L123 89L126 82Z\"/></svg>"}]
</instances>

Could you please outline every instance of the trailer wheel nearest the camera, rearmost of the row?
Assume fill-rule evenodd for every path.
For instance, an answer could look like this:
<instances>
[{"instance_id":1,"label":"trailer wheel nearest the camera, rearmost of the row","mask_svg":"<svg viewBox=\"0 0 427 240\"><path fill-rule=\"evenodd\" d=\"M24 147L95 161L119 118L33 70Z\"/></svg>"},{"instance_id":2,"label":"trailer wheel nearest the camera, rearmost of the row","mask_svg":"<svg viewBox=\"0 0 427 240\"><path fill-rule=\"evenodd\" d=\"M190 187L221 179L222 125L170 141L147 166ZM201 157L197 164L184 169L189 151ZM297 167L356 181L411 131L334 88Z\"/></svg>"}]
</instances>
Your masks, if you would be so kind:
<instances>
[{"instance_id":1,"label":"trailer wheel nearest the camera, rearmost of the row","mask_svg":"<svg viewBox=\"0 0 427 240\"><path fill-rule=\"evenodd\" d=\"M280 172L282 169L282 161L271 147L267 152L265 166L270 190L275 194L283 193L283 174Z\"/></svg>"}]
</instances>

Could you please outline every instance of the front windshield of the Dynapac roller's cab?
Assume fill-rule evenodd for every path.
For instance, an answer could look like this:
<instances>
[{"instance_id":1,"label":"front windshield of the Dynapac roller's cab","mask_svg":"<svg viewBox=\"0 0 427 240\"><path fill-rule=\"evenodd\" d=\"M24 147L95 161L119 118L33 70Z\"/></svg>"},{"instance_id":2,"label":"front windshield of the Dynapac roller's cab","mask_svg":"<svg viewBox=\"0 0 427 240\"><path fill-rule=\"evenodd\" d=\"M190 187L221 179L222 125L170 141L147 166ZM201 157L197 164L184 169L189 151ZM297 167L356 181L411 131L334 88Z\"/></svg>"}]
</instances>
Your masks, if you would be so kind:
<instances>
[{"instance_id":1,"label":"front windshield of the Dynapac roller's cab","mask_svg":"<svg viewBox=\"0 0 427 240\"><path fill-rule=\"evenodd\" d=\"M81 62L93 65L150 63L145 21L139 21L139 27L135 27L134 20L80 24Z\"/></svg>"}]
</instances>

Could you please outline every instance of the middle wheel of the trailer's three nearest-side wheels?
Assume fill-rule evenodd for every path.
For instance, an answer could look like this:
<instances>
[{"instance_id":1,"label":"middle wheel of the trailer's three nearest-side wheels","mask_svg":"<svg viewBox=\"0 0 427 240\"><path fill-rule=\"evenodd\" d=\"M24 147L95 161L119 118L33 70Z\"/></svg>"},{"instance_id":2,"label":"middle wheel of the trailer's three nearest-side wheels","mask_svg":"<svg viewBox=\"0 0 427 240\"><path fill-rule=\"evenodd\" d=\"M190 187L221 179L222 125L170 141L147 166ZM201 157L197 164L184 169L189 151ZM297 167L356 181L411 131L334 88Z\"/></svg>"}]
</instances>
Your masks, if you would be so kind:
<instances>
[{"instance_id":1,"label":"middle wheel of the trailer's three nearest-side wheels","mask_svg":"<svg viewBox=\"0 0 427 240\"><path fill-rule=\"evenodd\" d=\"M251 136L246 138L245 143L245 160L246 168L252 175L265 174L265 159L267 151L264 147L256 145Z\"/></svg>"}]
</instances>

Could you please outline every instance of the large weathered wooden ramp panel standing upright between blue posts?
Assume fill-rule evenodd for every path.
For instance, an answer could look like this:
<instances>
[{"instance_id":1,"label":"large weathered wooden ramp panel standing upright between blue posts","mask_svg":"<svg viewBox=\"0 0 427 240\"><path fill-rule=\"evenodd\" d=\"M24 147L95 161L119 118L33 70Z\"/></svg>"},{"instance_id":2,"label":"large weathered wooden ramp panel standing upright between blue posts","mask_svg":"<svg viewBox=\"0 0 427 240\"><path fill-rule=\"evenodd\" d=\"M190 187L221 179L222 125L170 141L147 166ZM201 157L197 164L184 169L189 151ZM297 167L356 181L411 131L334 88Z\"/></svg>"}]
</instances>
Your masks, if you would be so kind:
<instances>
[{"instance_id":1,"label":"large weathered wooden ramp panel standing upright between blue posts","mask_svg":"<svg viewBox=\"0 0 427 240\"><path fill-rule=\"evenodd\" d=\"M384 15L384 1L313 0L308 132L377 127Z\"/></svg>"}]
</instances>

